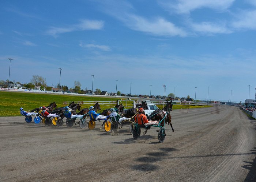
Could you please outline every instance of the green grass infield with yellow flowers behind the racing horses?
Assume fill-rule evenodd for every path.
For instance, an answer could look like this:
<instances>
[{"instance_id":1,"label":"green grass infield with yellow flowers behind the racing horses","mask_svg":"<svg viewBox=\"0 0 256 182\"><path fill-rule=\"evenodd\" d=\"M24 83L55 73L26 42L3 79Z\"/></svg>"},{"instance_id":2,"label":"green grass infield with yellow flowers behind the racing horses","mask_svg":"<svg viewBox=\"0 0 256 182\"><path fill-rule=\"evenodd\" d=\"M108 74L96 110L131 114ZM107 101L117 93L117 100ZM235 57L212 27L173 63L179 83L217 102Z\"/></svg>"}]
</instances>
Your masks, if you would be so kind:
<instances>
[{"instance_id":1,"label":"green grass infield with yellow flowers behind the racing horses","mask_svg":"<svg viewBox=\"0 0 256 182\"><path fill-rule=\"evenodd\" d=\"M51 102L56 102L57 107L63 107L64 101L112 101L115 98L106 97L90 97L90 96L73 96L73 95L56 95L56 94L33 94L23 92L5 92L0 91L0 116L20 116L19 108L24 110L33 110L36 107L48 106ZM127 104L131 101L127 101ZM125 104L125 101L123 101ZM93 105L93 104L91 104ZM115 104L113 104L114 106ZM89 105L83 105L82 108L88 108ZM205 106L190 106L190 108L198 108ZM207 107L207 106L206 106ZM208 106L209 107L209 106ZM101 104L104 110L110 106ZM173 105L173 109L180 109L180 105Z\"/></svg>"}]
</instances>

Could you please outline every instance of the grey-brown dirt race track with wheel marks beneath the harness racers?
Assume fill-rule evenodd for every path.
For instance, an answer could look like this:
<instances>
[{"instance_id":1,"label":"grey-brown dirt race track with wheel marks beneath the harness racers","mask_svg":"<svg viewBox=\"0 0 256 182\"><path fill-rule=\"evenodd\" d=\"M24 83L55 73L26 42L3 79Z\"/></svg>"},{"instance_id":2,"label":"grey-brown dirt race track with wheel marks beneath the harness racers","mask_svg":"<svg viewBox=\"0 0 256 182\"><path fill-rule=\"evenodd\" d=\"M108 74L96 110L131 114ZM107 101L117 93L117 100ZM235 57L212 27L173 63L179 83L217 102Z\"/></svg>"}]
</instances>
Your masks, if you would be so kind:
<instances>
[{"instance_id":1,"label":"grey-brown dirt race track with wheel marks beneath the harness racers","mask_svg":"<svg viewBox=\"0 0 256 182\"><path fill-rule=\"evenodd\" d=\"M171 111L166 126L134 140L115 133L0 118L0 181L256 181L256 126L237 107ZM143 131L142 131L143 132Z\"/></svg>"}]
</instances>

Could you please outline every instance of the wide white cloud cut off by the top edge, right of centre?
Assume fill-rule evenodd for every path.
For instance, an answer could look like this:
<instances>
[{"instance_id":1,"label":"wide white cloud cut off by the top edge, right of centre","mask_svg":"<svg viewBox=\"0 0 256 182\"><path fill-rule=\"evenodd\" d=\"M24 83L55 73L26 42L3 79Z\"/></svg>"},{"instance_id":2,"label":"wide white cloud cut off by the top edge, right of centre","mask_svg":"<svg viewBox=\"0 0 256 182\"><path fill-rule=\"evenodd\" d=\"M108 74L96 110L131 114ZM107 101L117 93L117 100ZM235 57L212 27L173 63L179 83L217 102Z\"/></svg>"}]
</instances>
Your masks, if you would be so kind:
<instances>
[{"instance_id":1,"label":"wide white cloud cut off by the top edge, right of centre","mask_svg":"<svg viewBox=\"0 0 256 182\"><path fill-rule=\"evenodd\" d=\"M227 9L235 0L159 0L165 9L176 13L190 13L199 8Z\"/></svg>"}]
</instances>

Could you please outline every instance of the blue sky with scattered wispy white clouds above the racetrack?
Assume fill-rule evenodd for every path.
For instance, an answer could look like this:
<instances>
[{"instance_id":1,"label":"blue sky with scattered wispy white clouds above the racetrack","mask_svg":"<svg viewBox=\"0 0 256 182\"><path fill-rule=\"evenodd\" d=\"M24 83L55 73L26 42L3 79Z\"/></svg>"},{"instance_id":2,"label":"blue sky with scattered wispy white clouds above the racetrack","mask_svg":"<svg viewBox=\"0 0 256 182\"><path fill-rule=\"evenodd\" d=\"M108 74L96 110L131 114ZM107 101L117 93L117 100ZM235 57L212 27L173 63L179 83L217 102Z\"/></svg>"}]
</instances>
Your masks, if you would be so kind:
<instances>
[{"instance_id":1,"label":"blue sky with scattered wispy white clouds above the racetrack","mask_svg":"<svg viewBox=\"0 0 256 182\"><path fill-rule=\"evenodd\" d=\"M93 90L116 92L118 80L127 94L166 85L166 95L244 102L250 88L255 99L255 0L1 0L0 10L2 80L11 58L21 83L55 86L62 68L68 87L91 90L94 75Z\"/></svg>"}]
</instances>

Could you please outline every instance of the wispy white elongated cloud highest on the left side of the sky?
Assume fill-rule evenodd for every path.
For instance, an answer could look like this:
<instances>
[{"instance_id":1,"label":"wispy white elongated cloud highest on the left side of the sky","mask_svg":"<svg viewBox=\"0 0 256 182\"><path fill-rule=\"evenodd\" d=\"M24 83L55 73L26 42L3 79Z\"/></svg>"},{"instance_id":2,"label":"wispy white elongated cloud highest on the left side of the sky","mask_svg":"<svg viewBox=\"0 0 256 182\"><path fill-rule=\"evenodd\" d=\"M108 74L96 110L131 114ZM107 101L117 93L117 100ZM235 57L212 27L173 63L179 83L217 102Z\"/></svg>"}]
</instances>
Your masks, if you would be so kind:
<instances>
[{"instance_id":1,"label":"wispy white elongated cloud highest on the left side of the sky","mask_svg":"<svg viewBox=\"0 0 256 182\"><path fill-rule=\"evenodd\" d=\"M79 24L71 25L68 27L51 27L46 34L56 37L59 33L67 33L73 31L84 31L84 30L99 30L104 26L103 21L97 20L81 20Z\"/></svg>"}]
</instances>

